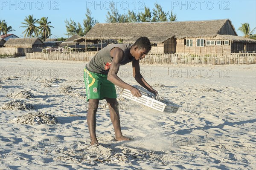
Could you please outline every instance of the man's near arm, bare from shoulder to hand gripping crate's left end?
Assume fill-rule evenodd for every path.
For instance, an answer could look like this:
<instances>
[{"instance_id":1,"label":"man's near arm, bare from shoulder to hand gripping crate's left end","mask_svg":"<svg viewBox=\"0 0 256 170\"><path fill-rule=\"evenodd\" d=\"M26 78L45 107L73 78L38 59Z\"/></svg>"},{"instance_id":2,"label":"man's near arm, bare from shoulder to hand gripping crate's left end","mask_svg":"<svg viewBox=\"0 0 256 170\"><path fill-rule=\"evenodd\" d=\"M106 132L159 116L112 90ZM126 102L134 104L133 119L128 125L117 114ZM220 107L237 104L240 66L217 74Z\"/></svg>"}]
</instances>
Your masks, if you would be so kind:
<instances>
[{"instance_id":1,"label":"man's near arm, bare from shoulder to hand gripping crate's left end","mask_svg":"<svg viewBox=\"0 0 256 170\"><path fill-rule=\"evenodd\" d=\"M130 90L132 95L134 95L136 97L140 97L141 93L138 89L125 83L124 81L121 80L121 78L119 78L117 76L117 73L119 71L120 62L122 61L122 59L124 58L124 55L125 55L124 52L120 48L115 47L111 50L110 55L111 55L111 57L113 57L113 61L111 63L111 67L108 72L108 81L111 81L116 86Z\"/></svg>"}]
</instances>

